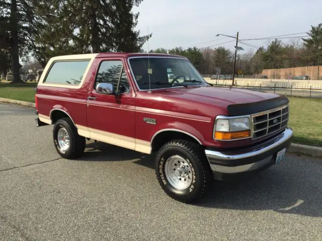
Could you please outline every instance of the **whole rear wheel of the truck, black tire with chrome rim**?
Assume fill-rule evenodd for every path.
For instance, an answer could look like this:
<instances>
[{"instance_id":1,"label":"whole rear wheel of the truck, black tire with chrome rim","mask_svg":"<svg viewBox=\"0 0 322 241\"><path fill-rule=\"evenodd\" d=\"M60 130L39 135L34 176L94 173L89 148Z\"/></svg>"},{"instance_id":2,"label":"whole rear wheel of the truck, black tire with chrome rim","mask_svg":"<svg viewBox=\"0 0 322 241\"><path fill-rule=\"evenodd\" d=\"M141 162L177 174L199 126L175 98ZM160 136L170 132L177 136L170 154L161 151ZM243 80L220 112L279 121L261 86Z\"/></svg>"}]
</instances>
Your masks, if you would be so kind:
<instances>
[{"instance_id":1,"label":"whole rear wheel of the truck, black tire with chrome rim","mask_svg":"<svg viewBox=\"0 0 322 241\"><path fill-rule=\"evenodd\" d=\"M56 151L62 158L79 157L85 150L85 138L78 135L70 118L58 119L54 125L53 139Z\"/></svg>"}]
</instances>

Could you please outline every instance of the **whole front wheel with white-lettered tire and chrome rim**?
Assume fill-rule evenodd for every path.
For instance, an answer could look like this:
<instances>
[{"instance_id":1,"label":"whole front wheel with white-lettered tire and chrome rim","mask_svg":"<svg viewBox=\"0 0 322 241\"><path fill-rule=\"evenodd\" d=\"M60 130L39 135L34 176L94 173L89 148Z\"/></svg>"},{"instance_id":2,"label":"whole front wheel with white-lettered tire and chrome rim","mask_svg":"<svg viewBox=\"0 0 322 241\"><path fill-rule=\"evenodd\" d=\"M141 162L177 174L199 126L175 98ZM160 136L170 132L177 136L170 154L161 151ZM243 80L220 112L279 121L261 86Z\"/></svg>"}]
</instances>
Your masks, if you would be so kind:
<instances>
[{"instance_id":1,"label":"whole front wheel with white-lettered tire and chrome rim","mask_svg":"<svg viewBox=\"0 0 322 241\"><path fill-rule=\"evenodd\" d=\"M213 177L201 148L189 141L175 140L160 148L155 173L163 190L181 202L194 202L207 193Z\"/></svg>"}]
</instances>

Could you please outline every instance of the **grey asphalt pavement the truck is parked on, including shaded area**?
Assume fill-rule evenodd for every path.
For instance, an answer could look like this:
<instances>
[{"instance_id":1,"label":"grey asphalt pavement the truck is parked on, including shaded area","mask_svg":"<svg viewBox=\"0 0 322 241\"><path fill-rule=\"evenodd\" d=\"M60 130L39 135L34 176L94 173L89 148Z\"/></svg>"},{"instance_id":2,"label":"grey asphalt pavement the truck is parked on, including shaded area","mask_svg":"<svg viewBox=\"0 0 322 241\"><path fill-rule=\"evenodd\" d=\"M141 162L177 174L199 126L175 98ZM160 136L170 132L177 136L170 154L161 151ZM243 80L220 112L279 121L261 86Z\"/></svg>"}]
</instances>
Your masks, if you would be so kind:
<instances>
[{"instance_id":1,"label":"grey asphalt pavement the truck is parked on, including shaded area","mask_svg":"<svg viewBox=\"0 0 322 241\"><path fill-rule=\"evenodd\" d=\"M0 104L0 240L322 240L322 160L287 154L197 204L159 187L153 156L89 142L56 153L35 109Z\"/></svg>"}]
</instances>

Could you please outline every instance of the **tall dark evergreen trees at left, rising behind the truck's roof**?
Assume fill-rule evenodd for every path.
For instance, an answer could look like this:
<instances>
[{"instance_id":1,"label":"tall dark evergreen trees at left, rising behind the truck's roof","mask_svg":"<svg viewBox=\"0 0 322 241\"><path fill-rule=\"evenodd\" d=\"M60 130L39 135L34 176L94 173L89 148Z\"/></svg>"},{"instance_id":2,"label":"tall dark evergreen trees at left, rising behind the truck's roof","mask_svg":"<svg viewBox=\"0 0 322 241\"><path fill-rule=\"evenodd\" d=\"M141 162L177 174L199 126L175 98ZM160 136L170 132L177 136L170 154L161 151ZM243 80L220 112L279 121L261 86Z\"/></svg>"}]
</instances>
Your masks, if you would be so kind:
<instances>
[{"instance_id":1,"label":"tall dark evergreen trees at left, rising behind the truck's roof","mask_svg":"<svg viewBox=\"0 0 322 241\"><path fill-rule=\"evenodd\" d=\"M142 0L2 0L0 73L20 82L20 59L43 67L57 55L139 52L151 35L135 31Z\"/></svg>"}]
</instances>

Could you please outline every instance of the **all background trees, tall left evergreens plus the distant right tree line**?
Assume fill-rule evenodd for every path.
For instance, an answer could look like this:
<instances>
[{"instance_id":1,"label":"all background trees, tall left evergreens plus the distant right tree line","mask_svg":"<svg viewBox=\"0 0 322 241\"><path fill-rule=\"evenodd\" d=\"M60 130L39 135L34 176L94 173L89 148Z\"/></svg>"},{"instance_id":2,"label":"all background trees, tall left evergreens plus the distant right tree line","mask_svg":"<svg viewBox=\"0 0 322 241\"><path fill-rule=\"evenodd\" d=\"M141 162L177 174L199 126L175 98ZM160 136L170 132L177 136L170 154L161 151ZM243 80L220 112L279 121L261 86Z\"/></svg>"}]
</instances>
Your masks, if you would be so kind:
<instances>
[{"instance_id":1,"label":"all background trees, tall left evergreens plus the distant right tree line","mask_svg":"<svg viewBox=\"0 0 322 241\"><path fill-rule=\"evenodd\" d=\"M142 0L2 0L0 2L0 74L9 69L20 81L20 60L31 56L45 66L58 55L97 52L144 52L151 35L135 30ZM284 44L278 39L266 48L238 51L236 71L319 65L322 60L322 24L311 26L303 42ZM241 44L241 43L240 43ZM155 53L187 57L202 74L233 72L233 53L224 47L158 48Z\"/></svg>"}]
</instances>

